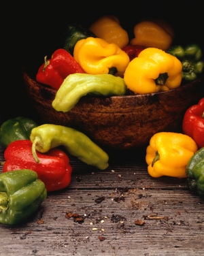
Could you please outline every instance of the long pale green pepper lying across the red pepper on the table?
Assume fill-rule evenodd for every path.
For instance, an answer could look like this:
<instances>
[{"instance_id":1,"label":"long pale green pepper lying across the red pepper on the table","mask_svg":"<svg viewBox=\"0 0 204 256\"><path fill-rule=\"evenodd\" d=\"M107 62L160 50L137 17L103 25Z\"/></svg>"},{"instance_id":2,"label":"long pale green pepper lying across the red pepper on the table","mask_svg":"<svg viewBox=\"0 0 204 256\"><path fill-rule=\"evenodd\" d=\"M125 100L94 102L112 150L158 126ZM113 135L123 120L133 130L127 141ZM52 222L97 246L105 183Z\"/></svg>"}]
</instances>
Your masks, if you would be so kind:
<instances>
[{"instance_id":1,"label":"long pale green pepper lying across the red pepper on the table","mask_svg":"<svg viewBox=\"0 0 204 256\"><path fill-rule=\"evenodd\" d=\"M84 133L62 125L45 124L31 131L32 151L35 161L39 161L36 150L46 153L51 148L64 146L67 152L80 161L93 165L100 170L108 167L109 157L97 144Z\"/></svg>"}]
</instances>

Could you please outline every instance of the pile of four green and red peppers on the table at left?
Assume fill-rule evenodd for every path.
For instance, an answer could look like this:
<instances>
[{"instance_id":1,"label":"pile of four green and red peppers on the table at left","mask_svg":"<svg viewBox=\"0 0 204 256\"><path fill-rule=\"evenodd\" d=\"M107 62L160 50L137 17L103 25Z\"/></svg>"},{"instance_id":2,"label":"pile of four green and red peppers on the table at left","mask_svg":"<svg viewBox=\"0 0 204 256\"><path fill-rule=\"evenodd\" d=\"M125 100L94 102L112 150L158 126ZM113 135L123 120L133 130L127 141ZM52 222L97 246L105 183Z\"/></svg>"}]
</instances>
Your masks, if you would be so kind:
<instances>
[{"instance_id":1,"label":"pile of four green and red peppers on the table at left","mask_svg":"<svg viewBox=\"0 0 204 256\"><path fill-rule=\"evenodd\" d=\"M16 225L33 214L48 191L65 189L72 167L67 153L105 170L109 157L84 133L61 125L38 126L18 116L0 127L5 148L0 174L0 223ZM67 153L58 146L63 146Z\"/></svg>"}]
</instances>

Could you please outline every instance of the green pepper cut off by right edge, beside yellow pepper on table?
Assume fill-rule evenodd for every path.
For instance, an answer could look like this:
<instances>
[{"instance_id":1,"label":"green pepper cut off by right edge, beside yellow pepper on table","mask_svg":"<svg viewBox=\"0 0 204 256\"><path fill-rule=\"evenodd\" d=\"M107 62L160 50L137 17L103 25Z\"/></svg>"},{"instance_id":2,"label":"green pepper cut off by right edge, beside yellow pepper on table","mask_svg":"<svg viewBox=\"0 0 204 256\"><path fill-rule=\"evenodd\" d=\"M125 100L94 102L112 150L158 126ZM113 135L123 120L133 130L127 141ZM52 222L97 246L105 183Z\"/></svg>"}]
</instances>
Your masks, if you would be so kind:
<instances>
[{"instance_id":1,"label":"green pepper cut off by right edge, beside yellow pepper on table","mask_svg":"<svg viewBox=\"0 0 204 256\"><path fill-rule=\"evenodd\" d=\"M187 186L192 193L204 199L204 147L200 148L188 161L186 166Z\"/></svg>"}]
</instances>

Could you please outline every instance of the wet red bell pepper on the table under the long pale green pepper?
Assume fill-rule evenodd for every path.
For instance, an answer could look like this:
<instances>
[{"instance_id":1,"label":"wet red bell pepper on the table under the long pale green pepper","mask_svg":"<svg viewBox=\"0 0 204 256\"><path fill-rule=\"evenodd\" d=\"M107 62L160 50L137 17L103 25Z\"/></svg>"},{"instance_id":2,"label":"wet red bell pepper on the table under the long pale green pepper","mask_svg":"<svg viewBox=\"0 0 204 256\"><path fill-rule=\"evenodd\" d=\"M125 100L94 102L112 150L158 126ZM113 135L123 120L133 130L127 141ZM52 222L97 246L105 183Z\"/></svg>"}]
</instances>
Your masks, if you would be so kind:
<instances>
[{"instance_id":1,"label":"wet red bell pepper on the table under the long pale green pepper","mask_svg":"<svg viewBox=\"0 0 204 256\"><path fill-rule=\"evenodd\" d=\"M37 172L38 178L44 182L47 191L64 189L71 182L72 167L69 157L63 150L52 148L48 153L37 152L39 163L32 153L31 140L11 142L4 152L3 172L30 169Z\"/></svg>"}]
</instances>

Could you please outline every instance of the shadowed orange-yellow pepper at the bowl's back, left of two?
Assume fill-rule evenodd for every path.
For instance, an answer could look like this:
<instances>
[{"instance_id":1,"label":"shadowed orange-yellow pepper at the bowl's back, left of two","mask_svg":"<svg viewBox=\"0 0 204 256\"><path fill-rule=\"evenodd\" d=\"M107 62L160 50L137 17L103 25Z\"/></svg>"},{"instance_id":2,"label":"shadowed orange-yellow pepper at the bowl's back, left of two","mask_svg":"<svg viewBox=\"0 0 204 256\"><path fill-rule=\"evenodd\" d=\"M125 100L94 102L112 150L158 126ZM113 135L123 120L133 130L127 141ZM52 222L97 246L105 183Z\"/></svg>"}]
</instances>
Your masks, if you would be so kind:
<instances>
[{"instance_id":1,"label":"shadowed orange-yellow pepper at the bowl's back, left of two","mask_svg":"<svg viewBox=\"0 0 204 256\"><path fill-rule=\"evenodd\" d=\"M116 16L102 16L92 23L89 30L109 44L117 44L120 48L129 43L129 34L120 26Z\"/></svg>"}]
</instances>

